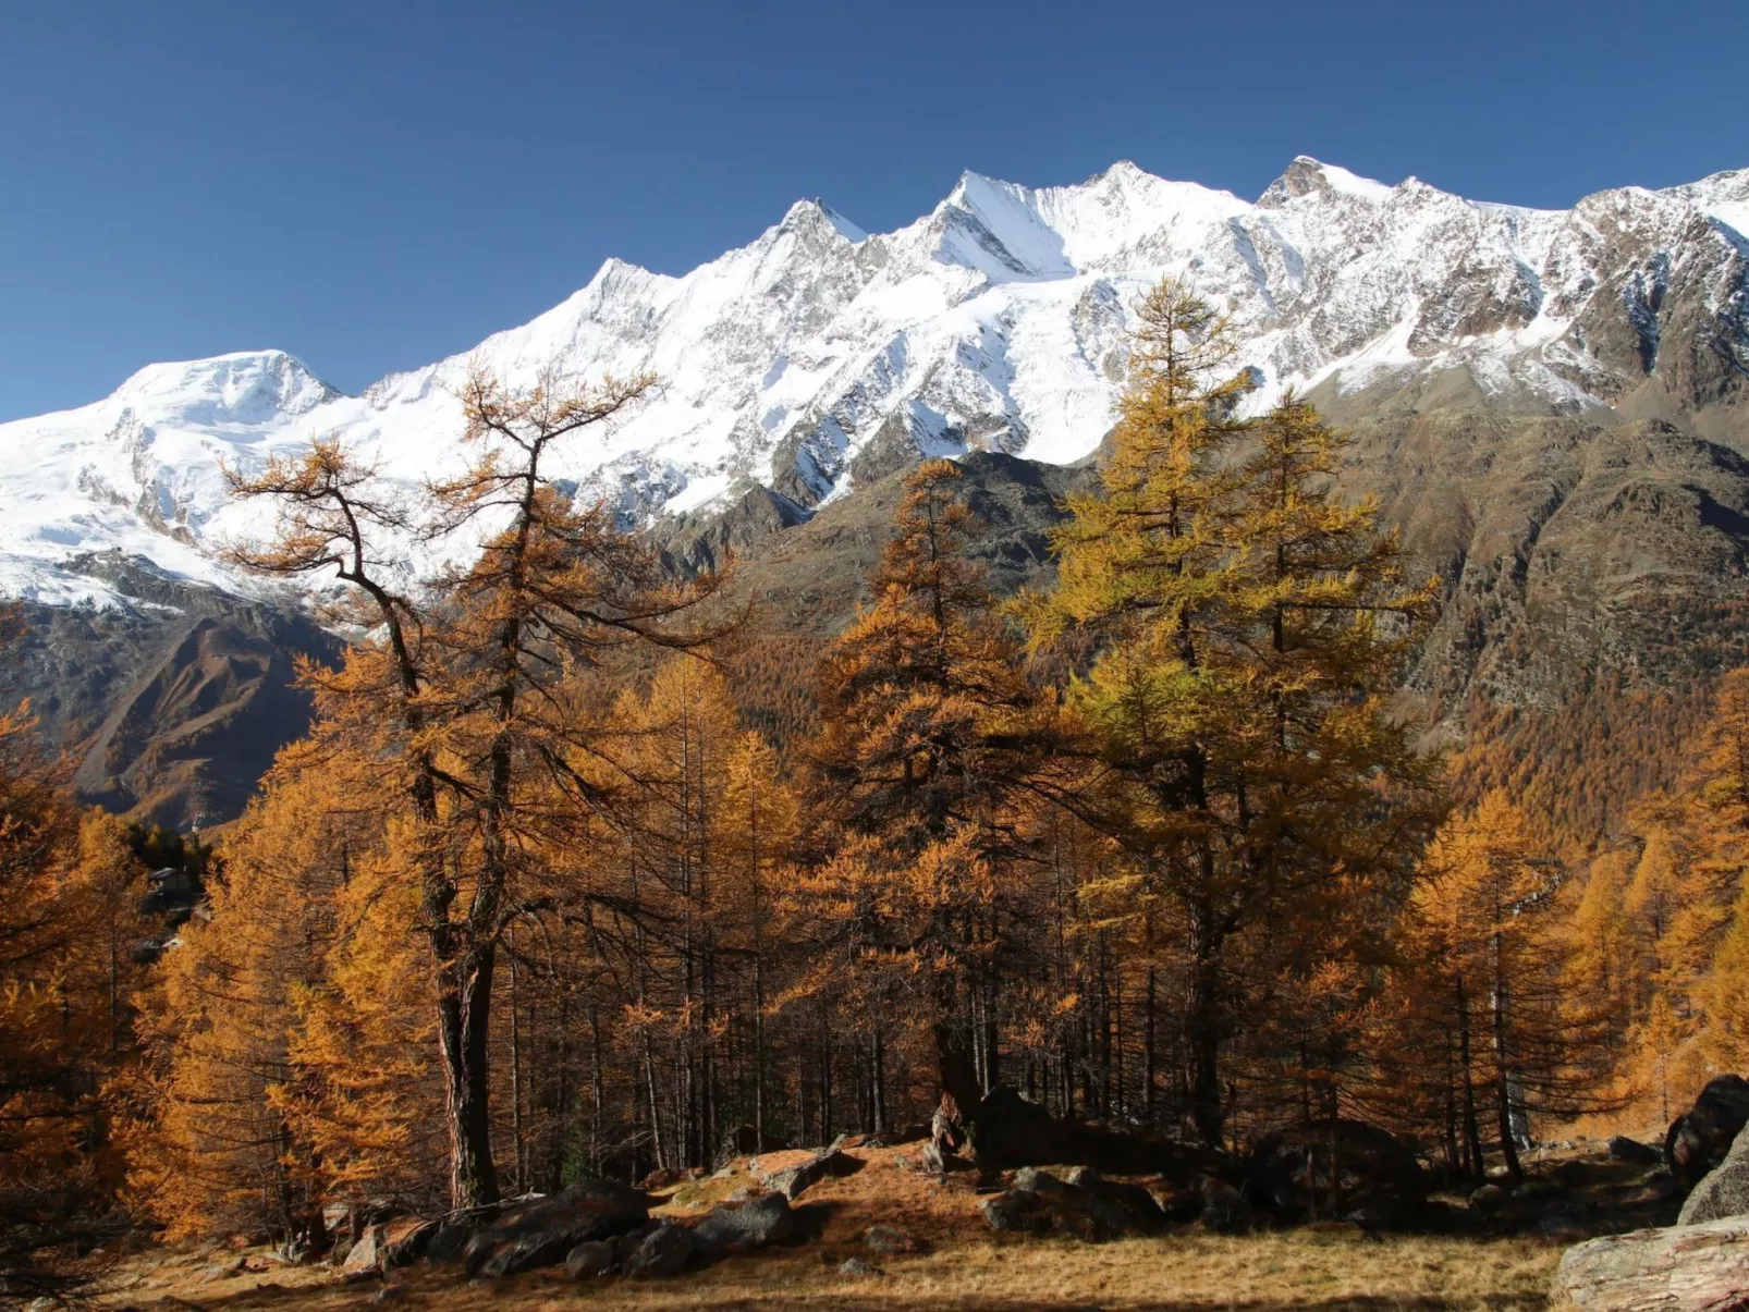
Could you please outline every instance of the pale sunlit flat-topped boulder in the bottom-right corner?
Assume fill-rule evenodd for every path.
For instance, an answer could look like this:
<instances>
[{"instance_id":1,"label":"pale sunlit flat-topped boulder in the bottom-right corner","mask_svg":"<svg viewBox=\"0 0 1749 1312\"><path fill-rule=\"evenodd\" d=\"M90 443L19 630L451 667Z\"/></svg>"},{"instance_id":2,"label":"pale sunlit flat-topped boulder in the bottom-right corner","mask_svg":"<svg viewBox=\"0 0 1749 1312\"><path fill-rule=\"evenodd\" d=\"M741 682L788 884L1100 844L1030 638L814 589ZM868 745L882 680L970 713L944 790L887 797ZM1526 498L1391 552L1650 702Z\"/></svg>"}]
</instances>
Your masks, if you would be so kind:
<instances>
[{"instance_id":1,"label":"pale sunlit flat-topped boulder in the bottom-right corner","mask_svg":"<svg viewBox=\"0 0 1749 1312\"><path fill-rule=\"evenodd\" d=\"M1604 1235L1567 1249L1555 1293L1581 1312L1726 1312L1749 1303L1749 1218Z\"/></svg>"}]
</instances>

